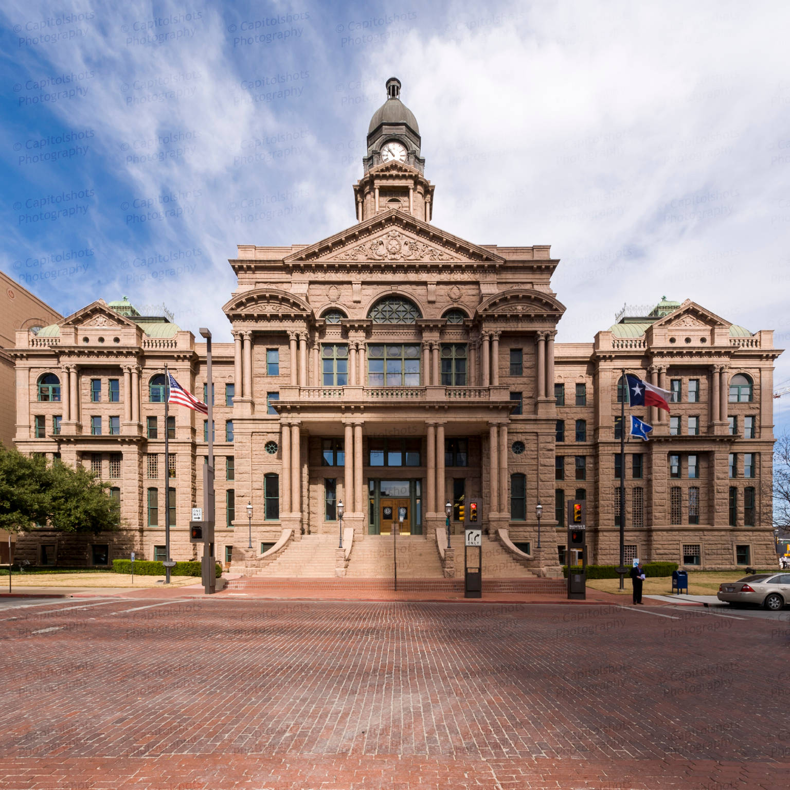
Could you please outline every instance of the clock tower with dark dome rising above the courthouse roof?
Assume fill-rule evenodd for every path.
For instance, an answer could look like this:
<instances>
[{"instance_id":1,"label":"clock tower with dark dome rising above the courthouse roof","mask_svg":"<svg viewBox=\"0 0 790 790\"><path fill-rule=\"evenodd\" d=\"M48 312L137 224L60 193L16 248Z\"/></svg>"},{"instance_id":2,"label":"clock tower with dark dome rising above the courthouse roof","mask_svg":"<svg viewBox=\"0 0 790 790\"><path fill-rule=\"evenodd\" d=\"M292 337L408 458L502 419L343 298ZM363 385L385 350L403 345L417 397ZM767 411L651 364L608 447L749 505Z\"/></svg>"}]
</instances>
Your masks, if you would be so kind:
<instances>
[{"instance_id":1,"label":"clock tower with dark dome rising above the courthouse roof","mask_svg":"<svg viewBox=\"0 0 790 790\"><path fill-rule=\"evenodd\" d=\"M434 187L423 175L417 119L401 102L397 77L389 77L386 91L387 100L374 112L367 130L364 175L354 185L356 218L362 222L395 209L429 222Z\"/></svg>"}]
</instances>

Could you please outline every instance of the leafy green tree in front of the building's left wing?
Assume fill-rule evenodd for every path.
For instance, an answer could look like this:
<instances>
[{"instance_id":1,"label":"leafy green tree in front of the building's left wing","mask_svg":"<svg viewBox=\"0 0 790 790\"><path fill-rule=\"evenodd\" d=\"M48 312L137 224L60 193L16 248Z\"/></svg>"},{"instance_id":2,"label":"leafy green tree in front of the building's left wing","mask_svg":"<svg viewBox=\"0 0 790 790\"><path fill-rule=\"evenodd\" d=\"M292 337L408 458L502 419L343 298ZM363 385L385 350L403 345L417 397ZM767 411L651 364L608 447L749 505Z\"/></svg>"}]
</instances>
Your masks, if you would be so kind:
<instances>
[{"instance_id":1,"label":"leafy green tree in front of the building's left wing","mask_svg":"<svg viewBox=\"0 0 790 790\"><path fill-rule=\"evenodd\" d=\"M60 532L113 531L120 506L92 472L0 444L0 529L28 532L36 524Z\"/></svg>"}]
</instances>

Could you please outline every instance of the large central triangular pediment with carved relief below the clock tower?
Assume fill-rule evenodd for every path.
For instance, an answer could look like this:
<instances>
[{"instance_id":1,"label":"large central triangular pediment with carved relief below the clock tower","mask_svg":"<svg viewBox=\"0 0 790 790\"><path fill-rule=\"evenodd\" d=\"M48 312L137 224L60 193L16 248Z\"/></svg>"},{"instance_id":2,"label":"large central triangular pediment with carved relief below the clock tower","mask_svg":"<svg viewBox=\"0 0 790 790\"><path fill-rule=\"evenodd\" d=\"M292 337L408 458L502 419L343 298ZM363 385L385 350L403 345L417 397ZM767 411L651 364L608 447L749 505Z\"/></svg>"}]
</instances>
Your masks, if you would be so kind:
<instances>
[{"instance_id":1,"label":"large central triangular pediment with carved relief below the clock tower","mask_svg":"<svg viewBox=\"0 0 790 790\"><path fill-rule=\"evenodd\" d=\"M504 259L484 247L417 220L411 214L393 209L285 258L286 263L313 261L502 263Z\"/></svg>"}]
</instances>

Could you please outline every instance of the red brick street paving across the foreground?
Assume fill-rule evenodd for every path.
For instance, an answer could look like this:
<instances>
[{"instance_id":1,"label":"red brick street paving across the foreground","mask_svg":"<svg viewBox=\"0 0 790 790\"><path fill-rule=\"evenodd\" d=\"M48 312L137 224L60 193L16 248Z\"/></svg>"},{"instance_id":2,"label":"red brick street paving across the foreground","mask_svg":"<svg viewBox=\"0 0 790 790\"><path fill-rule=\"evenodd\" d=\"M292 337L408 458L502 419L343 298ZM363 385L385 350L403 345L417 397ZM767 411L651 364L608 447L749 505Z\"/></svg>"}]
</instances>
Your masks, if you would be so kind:
<instances>
[{"instance_id":1,"label":"red brick street paving across the foreground","mask_svg":"<svg viewBox=\"0 0 790 790\"><path fill-rule=\"evenodd\" d=\"M787 613L146 595L0 642L0 788L787 784Z\"/></svg>"}]
</instances>

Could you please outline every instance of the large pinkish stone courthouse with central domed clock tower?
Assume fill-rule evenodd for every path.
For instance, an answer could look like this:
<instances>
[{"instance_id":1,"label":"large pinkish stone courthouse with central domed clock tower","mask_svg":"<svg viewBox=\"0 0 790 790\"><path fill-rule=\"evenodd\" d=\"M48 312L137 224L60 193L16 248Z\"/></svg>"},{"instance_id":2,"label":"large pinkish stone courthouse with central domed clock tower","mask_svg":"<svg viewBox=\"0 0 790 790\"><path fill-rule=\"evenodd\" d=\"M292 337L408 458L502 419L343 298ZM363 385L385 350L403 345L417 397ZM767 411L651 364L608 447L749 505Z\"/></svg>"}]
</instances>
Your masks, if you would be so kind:
<instances>
[{"instance_id":1,"label":"large pinkish stone courthouse with central domed clock tower","mask_svg":"<svg viewBox=\"0 0 790 790\"><path fill-rule=\"evenodd\" d=\"M354 575L366 545L398 529L452 575L446 506L457 534L478 499L484 542L506 558L500 575L507 562L513 574L556 575L564 505L581 498L588 562L616 563L624 474L626 559L773 564L771 331L662 298L590 343L555 343L559 260L546 245L481 245L432 223L434 185L400 87L387 81L371 119L355 224L311 244L240 245L229 261L234 340L213 345L218 559L265 575L290 556L304 575ZM9 353L17 446L92 468L122 509L118 533L66 538L43 526L18 553L60 564L133 550L164 559L167 507L172 555L192 558L209 427L179 407L164 423L163 374L167 364L209 397L205 344L124 298L38 333L23 327ZM655 430L628 442L620 468L623 368L671 389L675 403L670 416L626 408Z\"/></svg>"}]
</instances>

